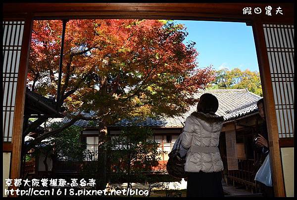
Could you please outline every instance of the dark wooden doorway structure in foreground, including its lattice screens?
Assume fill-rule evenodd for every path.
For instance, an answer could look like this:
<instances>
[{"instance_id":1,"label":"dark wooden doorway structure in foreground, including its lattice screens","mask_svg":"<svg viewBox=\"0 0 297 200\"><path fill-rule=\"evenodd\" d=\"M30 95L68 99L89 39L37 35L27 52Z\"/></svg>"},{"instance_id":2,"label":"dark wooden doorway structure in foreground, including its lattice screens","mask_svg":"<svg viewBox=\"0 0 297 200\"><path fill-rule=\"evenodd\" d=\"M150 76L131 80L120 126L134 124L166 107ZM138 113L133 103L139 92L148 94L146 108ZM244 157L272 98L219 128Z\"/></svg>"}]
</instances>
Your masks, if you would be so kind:
<instances>
[{"instance_id":1,"label":"dark wooden doorway structure in foreground, including its lattice screens","mask_svg":"<svg viewBox=\"0 0 297 200\"><path fill-rule=\"evenodd\" d=\"M265 14L271 6L282 14ZM260 8L261 13L254 13ZM250 9L250 14L244 14ZM3 3L3 185L19 178L25 83L36 19L179 19L252 26L276 197L294 196L294 3ZM18 30L16 32L15 30ZM9 37L4 37L9 36ZM8 59L13 58L13 62ZM10 60L10 61L12 61ZM7 187L3 187L4 189Z\"/></svg>"}]
</instances>

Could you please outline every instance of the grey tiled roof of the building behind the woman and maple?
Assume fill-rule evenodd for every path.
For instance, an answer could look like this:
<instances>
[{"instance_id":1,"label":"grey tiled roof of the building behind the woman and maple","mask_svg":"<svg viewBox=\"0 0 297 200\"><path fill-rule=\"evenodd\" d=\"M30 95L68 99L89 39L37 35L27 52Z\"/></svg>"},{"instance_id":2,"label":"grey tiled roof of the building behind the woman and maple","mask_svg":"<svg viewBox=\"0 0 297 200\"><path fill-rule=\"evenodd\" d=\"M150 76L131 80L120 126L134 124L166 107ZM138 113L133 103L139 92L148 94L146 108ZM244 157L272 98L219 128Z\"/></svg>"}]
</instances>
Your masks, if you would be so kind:
<instances>
[{"instance_id":1,"label":"grey tiled roof of the building behind the woman and maple","mask_svg":"<svg viewBox=\"0 0 297 200\"><path fill-rule=\"evenodd\" d=\"M223 116L225 121L233 120L238 117L242 117L254 112L257 112L256 102L262 97L249 92L247 89L216 89L216 90L199 90L194 95L195 98L199 98L204 93L211 93L217 97L219 101L219 108L216 112L218 116ZM173 118L160 118L151 119L146 118L144 121L134 120L121 120L118 123L112 125L113 127L129 126L132 125L132 121L136 122L140 126L151 127L183 127L186 118L194 111L196 111L197 104L191 106L189 111L180 117ZM87 117L94 116L95 112L84 113ZM53 119L53 121L61 121L62 119ZM63 122L69 121L63 119ZM75 125L90 127L89 121L78 120Z\"/></svg>"}]
</instances>

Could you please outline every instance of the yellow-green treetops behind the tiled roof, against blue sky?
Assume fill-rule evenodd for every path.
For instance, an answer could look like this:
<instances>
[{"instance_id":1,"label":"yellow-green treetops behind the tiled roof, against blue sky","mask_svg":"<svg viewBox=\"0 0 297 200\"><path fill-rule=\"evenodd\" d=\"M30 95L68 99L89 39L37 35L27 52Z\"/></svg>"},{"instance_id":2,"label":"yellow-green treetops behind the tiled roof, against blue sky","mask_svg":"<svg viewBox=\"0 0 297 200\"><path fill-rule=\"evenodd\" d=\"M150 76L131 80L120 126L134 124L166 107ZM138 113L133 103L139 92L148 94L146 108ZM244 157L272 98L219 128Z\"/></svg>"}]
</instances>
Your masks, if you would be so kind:
<instances>
[{"instance_id":1,"label":"yellow-green treetops behind the tiled roof, against blue sky","mask_svg":"<svg viewBox=\"0 0 297 200\"><path fill-rule=\"evenodd\" d=\"M244 89L263 96L260 74L257 71L245 70L239 68L233 70L221 69L215 71L215 80L212 82L211 89Z\"/></svg>"}]
</instances>

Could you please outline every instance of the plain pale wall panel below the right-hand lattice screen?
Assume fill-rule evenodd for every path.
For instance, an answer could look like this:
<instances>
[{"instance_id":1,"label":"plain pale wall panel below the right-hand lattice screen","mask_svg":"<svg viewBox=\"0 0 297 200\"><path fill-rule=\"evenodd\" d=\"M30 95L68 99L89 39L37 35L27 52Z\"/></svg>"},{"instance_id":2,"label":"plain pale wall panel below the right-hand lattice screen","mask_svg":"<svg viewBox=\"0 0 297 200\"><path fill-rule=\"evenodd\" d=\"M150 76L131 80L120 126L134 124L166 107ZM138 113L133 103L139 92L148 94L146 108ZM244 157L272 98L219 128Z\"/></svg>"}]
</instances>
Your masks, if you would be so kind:
<instances>
[{"instance_id":1,"label":"plain pale wall panel below the right-hand lattice screen","mask_svg":"<svg viewBox=\"0 0 297 200\"><path fill-rule=\"evenodd\" d=\"M286 197L294 197L294 147L281 148Z\"/></svg>"}]
</instances>

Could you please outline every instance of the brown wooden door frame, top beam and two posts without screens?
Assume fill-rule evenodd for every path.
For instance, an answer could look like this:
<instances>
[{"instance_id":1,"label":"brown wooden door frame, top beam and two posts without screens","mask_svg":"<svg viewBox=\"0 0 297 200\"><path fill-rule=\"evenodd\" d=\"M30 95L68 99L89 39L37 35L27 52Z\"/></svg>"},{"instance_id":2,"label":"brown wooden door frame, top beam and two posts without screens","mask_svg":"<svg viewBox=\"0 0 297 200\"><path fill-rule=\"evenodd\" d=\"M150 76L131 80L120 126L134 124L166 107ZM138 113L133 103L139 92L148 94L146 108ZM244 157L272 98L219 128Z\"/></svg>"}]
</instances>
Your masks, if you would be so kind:
<instances>
[{"instance_id":1,"label":"brown wooden door frame, top beam and two posts without screens","mask_svg":"<svg viewBox=\"0 0 297 200\"><path fill-rule=\"evenodd\" d=\"M267 3L3 3L3 17L26 18L23 48L21 54L20 76L18 80L15 127L13 131L13 166L19 166L20 133L22 132L22 114L24 107L24 87L27 71L31 24L34 19L64 18L136 18L136 19L186 19L205 21L246 22L253 27L260 77L265 97L268 136L272 157L274 190L276 197L285 197L282 163L280 158L279 138L273 91L269 73L269 63L265 48L263 23L293 24L293 3L269 3L272 7L281 6L285 14L280 16L243 15L244 7L261 7ZM23 83L24 85L21 85ZM17 135L19 134L19 135ZM19 167L12 169L11 176L19 175Z\"/></svg>"}]
</instances>

